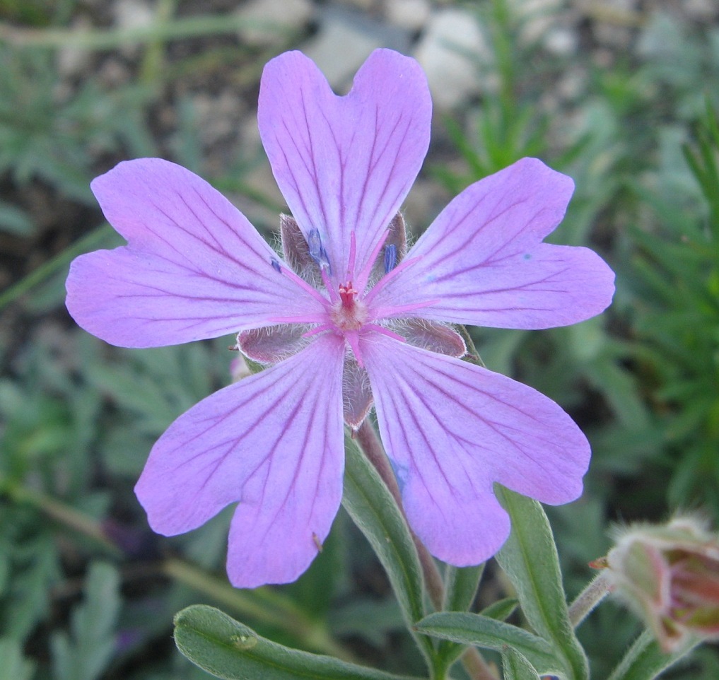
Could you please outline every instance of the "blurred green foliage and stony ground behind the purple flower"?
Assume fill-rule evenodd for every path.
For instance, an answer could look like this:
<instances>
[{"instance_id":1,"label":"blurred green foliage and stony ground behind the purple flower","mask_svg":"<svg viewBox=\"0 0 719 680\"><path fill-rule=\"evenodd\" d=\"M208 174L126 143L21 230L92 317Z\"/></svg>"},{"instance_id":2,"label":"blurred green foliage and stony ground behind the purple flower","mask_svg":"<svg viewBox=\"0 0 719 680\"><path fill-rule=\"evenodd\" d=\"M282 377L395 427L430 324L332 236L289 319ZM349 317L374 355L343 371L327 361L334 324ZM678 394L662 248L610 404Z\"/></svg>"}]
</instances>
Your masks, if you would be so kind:
<instances>
[{"instance_id":1,"label":"blurred green foliage and stony ground behind the purple flower","mask_svg":"<svg viewBox=\"0 0 719 680\"><path fill-rule=\"evenodd\" d=\"M257 133L262 66L298 48L344 92L375 47L417 58L433 91L415 234L532 155L577 184L551 240L617 272L599 318L472 329L487 367L557 400L592 442L585 495L549 509L569 596L612 523L698 509L716 524L715 0L0 0L0 680L205 678L171 637L193 602L281 643L423 672L342 513L296 584L253 592L226 581L228 512L187 536L148 529L132 493L147 453L229 383L234 339L125 351L63 305L70 260L122 244L88 187L119 160L185 165L273 241L285 206ZM488 569L477 607L504 588ZM637 630L611 602L582 624L595 677ZM668 676L715 680L718 656Z\"/></svg>"}]
</instances>

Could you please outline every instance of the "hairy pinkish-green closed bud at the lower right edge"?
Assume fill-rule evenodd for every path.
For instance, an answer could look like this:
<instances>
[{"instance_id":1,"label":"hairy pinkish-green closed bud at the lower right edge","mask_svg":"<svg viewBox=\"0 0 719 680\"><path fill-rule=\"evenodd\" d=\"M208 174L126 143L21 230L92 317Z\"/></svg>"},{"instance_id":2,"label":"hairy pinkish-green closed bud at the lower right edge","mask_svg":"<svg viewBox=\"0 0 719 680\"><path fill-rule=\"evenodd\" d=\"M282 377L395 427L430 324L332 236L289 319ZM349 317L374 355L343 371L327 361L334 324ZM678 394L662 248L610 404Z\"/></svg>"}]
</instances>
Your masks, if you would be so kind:
<instances>
[{"instance_id":1,"label":"hairy pinkish-green closed bud at the lower right edge","mask_svg":"<svg viewBox=\"0 0 719 680\"><path fill-rule=\"evenodd\" d=\"M719 640L719 539L700 520L630 527L606 562L610 584L664 651L692 633Z\"/></svg>"}]
</instances>

